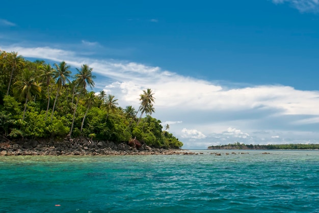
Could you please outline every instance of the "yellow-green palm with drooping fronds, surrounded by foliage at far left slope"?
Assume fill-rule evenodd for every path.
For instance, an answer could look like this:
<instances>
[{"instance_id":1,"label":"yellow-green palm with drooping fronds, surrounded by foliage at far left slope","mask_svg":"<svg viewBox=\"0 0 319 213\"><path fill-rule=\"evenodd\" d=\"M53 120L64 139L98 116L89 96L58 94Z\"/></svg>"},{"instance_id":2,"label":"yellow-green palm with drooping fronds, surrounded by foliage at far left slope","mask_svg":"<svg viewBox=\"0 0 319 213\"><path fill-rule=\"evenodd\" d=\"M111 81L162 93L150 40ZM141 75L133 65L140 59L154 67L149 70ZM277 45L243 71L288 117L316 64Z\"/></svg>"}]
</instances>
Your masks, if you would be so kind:
<instances>
[{"instance_id":1,"label":"yellow-green palm with drooping fronds, surrounded by foliage at far left slope","mask_svg":"<svg viewBox=\"0 0 319 213\"><path fill-rule=\"evenodd\" d=\"M32 94L40 95L41 87L36 82L35 72L29 69L24 69L21 73L21 76L18 78L18 81L14 83L16 86L16 94L19 97L19 100L25 98L24 111L22 116L22 121L24 120L26 104L28 100L32 99Z\"/></svg>"}]
</instances>

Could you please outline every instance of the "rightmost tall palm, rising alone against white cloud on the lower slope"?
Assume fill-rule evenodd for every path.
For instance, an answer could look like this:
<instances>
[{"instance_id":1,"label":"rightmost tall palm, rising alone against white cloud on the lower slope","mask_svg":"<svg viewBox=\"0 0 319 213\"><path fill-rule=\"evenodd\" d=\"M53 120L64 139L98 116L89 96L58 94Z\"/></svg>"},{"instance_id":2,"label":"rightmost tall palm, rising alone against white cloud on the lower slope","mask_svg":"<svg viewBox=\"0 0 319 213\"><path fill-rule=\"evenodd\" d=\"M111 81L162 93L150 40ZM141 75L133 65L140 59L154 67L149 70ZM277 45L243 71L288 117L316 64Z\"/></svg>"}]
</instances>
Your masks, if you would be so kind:
<instances>
[{"instance_id":1,"label":"rightmost tall palm, rising alone against white cloud on the lower slope","mask_svg":"<svg viewBox=\"0 0 319 213\"><path fill-rule=\"evenodd\" d=\"M143 94L140 95L141 105L138 112L141 111L141 115L137 122L137 125L139 125L144 113L151 115L152 112L154 112L153 103L155 98L153 97L153 95L154 93L152 93L152 90L149 88L147 88L147 90L143 90Z\"/></svg>"}]
</instances>

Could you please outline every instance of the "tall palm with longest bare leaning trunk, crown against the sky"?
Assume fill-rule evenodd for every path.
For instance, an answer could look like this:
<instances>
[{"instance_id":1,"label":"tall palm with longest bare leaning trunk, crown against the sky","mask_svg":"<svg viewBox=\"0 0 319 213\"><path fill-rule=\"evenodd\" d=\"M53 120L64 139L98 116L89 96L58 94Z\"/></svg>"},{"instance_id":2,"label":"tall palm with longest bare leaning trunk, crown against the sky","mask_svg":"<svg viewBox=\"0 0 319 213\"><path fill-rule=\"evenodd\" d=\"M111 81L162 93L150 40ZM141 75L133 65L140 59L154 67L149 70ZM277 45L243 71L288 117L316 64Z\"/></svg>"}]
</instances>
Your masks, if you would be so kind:
<instances>
[{"instance_id":1,"label":"tall palm with longest bare leaning trunk, crown against the sky","mask_svg":"<svg viewBox=\"0 0 319 213\"><path fill-rule=\"evenodd\" d=\"M81 66L81 70L79 70L77 68L76 68L76 70L78 71L78 73L75 74L75 82L76 82L76 85L79 86L81 89L77 95L77 100L76 100L76 104L75 104L75 109L74 109L74 113L73 113L73 119L72 119L72 124L71 124L69 136L72 135L75 113L76 113L76 108L77 108L79 96L80 96L82 90L84 90L86 92L87 86L90 86L91 89L94 87L93 78L95 78L95 76L92 75L93 68L89 67L87 64L83 64Z\"/></svg>"}]
</instances>

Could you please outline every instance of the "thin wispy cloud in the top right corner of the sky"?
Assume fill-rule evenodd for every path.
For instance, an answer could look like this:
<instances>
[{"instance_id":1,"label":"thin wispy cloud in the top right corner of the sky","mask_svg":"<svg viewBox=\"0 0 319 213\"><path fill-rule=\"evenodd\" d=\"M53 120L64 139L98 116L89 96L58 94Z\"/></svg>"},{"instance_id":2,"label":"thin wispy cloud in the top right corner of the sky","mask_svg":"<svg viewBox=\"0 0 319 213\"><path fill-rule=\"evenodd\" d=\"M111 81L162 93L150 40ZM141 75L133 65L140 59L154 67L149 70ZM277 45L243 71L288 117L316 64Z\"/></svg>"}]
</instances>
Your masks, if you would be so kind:
<instances>
[{"instance_id":1,"label":"thin wispy cloud in the top right corner of the sky","mask_svg":"<svg viewBox=\"0 0 319 213\"><path fill-rule=\"evenodd\" d=\"M300 12L319 12L318 0L273 0L275 4L289 3L292 7L296 8Z\"/></svg>"}]
</instances>

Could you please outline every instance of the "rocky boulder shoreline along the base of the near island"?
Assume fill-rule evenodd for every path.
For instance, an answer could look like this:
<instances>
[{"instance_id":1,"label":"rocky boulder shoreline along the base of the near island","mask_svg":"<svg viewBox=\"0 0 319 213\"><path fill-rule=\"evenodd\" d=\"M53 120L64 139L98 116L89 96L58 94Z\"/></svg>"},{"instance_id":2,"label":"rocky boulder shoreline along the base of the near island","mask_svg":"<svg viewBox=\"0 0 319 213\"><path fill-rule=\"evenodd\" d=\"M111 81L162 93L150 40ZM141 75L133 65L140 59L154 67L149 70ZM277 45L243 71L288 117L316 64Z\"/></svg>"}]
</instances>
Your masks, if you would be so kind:
<instances>
[{"instance_id":1,"label":"rocky boulder shoreline along the base of the near island","mask_svg":"<svg viewBox=\"0 0 319 213\"><path fill-rule=\"evenodd\" d=\"M139 149L127 143L92 141L87 138L54 140L0 141L0 156L10 155L172 155L190 154L181 149L152 148L143 144Z\"/></svg>"}]
</instances>

